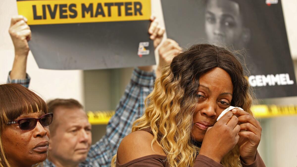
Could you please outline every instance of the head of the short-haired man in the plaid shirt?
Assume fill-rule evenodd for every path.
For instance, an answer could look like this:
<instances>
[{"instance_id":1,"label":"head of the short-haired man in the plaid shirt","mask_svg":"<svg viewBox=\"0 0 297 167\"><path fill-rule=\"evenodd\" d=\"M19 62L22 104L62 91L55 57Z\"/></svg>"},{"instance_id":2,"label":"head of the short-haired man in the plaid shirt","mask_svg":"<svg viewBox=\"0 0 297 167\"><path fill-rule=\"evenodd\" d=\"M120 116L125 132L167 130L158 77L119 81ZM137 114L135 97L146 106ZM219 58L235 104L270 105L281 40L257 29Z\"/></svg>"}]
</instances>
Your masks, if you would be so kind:
<instances>
[{"instance_id":1,"label":"head of the short-haired man in the plaid shirt","mask_svg":"<svg viewBox=\"0 0 297 167\"><path fill-rule=\"evenodd\" d=\"M55 166L76 166L85 161L92 134L83 105L74 99L55 99L48 102L48 108L54 114L53 123L49 126L48 160Z\"/></svg>"}]
</instances>

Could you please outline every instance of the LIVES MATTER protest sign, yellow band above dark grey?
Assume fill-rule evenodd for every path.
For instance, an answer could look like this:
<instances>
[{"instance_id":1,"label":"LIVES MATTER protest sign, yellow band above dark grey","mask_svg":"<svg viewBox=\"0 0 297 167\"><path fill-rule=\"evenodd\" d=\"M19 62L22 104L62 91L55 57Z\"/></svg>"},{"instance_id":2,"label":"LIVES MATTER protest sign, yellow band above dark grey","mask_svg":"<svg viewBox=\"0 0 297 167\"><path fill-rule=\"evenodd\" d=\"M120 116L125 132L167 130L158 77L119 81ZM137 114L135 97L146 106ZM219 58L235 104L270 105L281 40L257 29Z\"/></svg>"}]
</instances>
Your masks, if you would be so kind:
<instances>
[{"instance_id":1,"label":"LIVES MATTER protest sign, yellow band above dark grey","mask_svg":"<svg viewBox=\"0 0 297 167\"><path fill-rule=\"evenodd\" d=\"M155 64L150 0L17 0L40 68L90 70Z\"/></svg>"}]
</instances>

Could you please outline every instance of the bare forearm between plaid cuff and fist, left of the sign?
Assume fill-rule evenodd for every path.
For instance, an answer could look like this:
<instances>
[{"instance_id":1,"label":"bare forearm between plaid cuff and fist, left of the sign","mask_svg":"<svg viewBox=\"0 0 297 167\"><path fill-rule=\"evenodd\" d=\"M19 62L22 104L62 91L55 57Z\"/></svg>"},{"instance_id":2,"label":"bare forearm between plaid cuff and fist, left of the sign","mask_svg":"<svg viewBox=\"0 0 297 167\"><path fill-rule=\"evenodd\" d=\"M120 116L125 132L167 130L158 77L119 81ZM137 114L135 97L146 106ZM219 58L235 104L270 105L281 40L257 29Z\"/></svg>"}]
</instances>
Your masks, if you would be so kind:
<instances>
[{"instance_id":1,"label":"bare forearm between plaid cuff and fist, left of the sign","mask_svg":"<svg viewBox=\"0 0 297 167\"><path fill-rule=\"evenodd\" d=\"M15 55L10 78L26 79L27 55Z\"/></svg>"}]
</instances>

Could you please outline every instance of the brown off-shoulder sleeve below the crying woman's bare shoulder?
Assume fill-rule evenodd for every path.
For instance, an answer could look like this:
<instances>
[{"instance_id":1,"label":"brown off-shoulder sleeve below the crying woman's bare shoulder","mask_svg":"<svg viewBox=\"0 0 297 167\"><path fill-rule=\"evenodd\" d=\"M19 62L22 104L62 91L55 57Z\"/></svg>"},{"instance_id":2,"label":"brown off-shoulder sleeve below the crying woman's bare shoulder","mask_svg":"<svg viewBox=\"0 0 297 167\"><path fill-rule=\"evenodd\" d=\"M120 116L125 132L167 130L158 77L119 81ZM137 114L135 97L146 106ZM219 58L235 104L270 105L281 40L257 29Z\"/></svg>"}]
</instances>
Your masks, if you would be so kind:
<instances>
[{"instance_id":1,"label":"brown off-shoulder sleeve below the crying woman's bare shoulder","mask_svg":"<svg viewBox=\"0 0 297 167\"><path fill-rule=\"evenodd\" d=\"M116 162L116 167L165 167L166 156L163 155L148 155L129 161L124 164Z\"/></svg>"}]
</instances>

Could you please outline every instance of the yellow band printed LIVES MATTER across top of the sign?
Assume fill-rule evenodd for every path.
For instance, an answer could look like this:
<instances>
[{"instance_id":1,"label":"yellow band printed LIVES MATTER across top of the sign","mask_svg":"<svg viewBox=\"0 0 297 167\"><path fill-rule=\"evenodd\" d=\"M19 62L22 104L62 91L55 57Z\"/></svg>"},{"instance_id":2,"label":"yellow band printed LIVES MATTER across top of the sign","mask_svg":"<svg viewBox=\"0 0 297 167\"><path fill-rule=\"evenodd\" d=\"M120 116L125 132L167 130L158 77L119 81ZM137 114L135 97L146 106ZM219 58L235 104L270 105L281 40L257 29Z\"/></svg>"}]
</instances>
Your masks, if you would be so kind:
<instances>
[{"instance_id":1,"label":"yellow band printed LIVES MATTER across top of the sign","mask_svg":"<svg viewBox=\"0 0 297 167\"><path fill-rule=\"evenodd\" d=\"M29 25L149 20L150 0L17 1Z\"/></svg>"}]
</instances>

